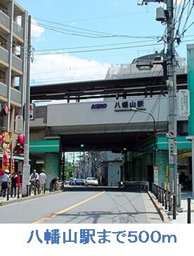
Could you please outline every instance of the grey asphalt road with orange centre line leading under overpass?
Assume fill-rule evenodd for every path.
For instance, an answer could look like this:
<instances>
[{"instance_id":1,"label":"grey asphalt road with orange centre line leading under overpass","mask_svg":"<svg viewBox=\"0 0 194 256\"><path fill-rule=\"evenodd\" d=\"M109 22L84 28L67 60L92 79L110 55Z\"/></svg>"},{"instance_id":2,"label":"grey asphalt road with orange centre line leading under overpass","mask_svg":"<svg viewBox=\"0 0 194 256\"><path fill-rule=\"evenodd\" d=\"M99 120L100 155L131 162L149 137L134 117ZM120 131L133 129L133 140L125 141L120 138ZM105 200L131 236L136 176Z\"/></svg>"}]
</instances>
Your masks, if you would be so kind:
<instances>
[{"instance_id":1,"label":"grey asphalt road with orange centre line leading under overpass","mask_svg":"<svg viewBox=\"0 0 194 256\"><path fill-rule=\"evenodd\" d=\"M147 193L66 191L0 207L0 223L162 223Z\"/></svg>"}]
</instances>

